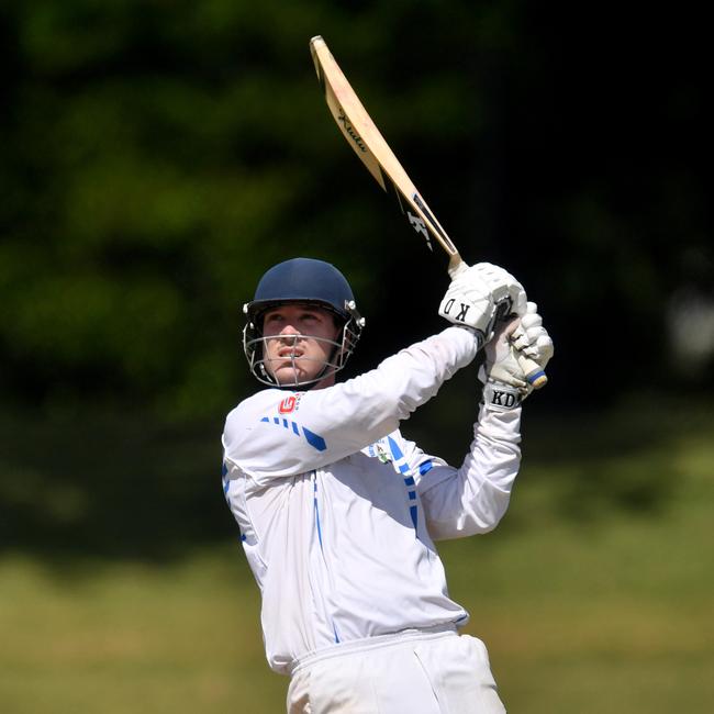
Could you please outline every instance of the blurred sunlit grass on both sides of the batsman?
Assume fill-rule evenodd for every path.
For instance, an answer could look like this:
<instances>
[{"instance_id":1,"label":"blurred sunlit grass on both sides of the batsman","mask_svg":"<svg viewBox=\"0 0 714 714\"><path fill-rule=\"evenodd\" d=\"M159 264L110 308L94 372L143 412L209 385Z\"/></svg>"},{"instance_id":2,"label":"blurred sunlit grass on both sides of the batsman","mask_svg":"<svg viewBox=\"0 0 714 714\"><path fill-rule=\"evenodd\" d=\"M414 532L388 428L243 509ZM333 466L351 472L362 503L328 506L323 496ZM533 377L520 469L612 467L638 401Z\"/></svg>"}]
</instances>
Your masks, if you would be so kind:
<instances>
[{"instance_id":1,"label":"blurred sunlit grass on both sides of the batsman","mask_svg":"<svg viewBox=\"0 0 714 714\"><path fill-rule=\"evenodd\" d=\"M714 419L623 442L629 419L534 425L503 523L439 547L510 712L712 711ZM258 606L233 543L163 565L5 554L0 712L281 712Z\"/></svg>"}]
</instances>

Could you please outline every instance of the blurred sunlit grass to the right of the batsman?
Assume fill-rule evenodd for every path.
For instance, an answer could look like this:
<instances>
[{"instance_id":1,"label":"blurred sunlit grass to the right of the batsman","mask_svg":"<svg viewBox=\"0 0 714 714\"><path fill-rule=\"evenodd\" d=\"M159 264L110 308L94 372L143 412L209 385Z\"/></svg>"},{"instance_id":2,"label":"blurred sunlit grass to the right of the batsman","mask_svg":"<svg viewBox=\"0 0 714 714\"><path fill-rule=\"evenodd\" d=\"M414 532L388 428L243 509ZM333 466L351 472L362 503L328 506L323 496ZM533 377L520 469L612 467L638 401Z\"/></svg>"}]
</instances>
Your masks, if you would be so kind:
<instances>
[{"instance_id":1,"label":"blurred sunlit grass to the right of the batsman","mask_svg":"<svg viewBox=\"0 0 714 714\"><path fill-rule=\"evenodd\" d=\"M467 631L487 642L512 711L711 711L714 432L711 419L699 426L673 434L667 459L651 445L621 457L654 481L676 480L652 512L557 517L579 465L554 473L547 460L526 462L493 534L442 545L451 594L471 612ZM625 468L606 451L591 466Z\"/></svg>"}]
</instances>

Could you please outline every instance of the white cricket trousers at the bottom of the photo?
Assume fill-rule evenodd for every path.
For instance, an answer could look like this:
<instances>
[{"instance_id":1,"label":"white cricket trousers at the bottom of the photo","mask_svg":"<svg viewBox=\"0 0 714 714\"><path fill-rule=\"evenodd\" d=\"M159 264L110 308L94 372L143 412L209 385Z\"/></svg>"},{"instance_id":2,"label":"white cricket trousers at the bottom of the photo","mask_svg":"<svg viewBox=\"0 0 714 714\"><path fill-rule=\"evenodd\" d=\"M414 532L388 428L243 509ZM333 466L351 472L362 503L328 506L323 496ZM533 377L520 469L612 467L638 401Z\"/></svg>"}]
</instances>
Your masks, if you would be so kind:
<instances>
[{"instance_id":1,"label":"white cricket trousers at the bottom of the photo","mask_svg":"<svg viewBox=\"0 0 714 714\"><path fill-rule=\"evenodd\" d=\"M504 714L486 645L405 631L335 645L300 661L288 714Z\"/></svg>"}]
</instances>

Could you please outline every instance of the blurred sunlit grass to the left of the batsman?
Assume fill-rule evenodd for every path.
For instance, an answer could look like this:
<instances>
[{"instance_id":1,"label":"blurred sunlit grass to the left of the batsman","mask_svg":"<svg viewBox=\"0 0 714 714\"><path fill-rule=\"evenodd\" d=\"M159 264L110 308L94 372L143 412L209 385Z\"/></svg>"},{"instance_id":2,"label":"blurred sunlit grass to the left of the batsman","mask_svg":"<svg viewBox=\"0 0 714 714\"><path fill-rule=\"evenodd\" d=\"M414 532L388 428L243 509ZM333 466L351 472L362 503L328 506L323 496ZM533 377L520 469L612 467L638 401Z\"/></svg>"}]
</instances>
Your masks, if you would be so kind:
<instances>
[{"instance_id":1,"label":"blurred sunlit grass to the left of the batsman","mask_svg":"<svg viewBox=\"0 0 714 714\"><path fill-rule=\"evenodd\" d=\"M0 711L279 711L238 547L164 569L0 567Z\"/></svg>"}]
</instances>

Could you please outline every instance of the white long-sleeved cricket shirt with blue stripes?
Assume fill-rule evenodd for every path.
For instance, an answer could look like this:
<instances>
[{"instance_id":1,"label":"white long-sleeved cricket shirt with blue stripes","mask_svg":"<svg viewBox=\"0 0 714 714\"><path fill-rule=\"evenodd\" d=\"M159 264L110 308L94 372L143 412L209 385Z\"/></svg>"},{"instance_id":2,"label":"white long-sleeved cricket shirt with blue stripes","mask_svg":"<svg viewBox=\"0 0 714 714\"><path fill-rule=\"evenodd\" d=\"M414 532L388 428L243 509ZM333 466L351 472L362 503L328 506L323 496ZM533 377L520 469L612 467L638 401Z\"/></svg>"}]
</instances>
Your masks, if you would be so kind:
<instances>
[{"instance_id":1,"label":"white long-sleeved cricket shirt with blue stripes","mask_svg":"<svg viewBox=\"0 0 714 714\"><path fill-rule=\"evenodd\" d=\"M266 389L228 414L223 486L274 670L339 643L467 621L433 540L497 525L520 465L521 409L481 409L458 469L398 426L476 353L471 332L448 327L354 379Z\"/></svg>"}]
</instances>

